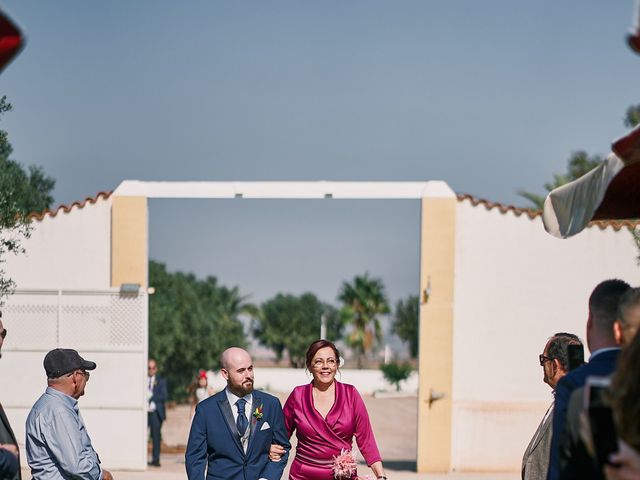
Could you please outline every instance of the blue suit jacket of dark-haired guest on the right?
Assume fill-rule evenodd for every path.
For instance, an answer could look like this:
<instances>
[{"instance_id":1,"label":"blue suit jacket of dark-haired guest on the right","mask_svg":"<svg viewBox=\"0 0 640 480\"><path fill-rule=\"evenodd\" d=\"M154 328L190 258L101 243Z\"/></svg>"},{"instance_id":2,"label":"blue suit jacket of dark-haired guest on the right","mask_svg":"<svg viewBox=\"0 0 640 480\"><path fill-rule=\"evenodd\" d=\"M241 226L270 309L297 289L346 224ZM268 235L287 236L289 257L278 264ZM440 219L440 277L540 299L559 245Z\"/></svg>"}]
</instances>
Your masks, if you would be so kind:
<instances>
[{"instance_id":1,"label":"blue suit jacket of dark-haired guest on the right","mask_svg":"<svg viewBox=\"0 0 640 480\"><path fill-rule=\"evenodd\" d=\"M547 480L560 478L560 438L567 417L567 408L571 393L584 386L589 376L606 377L613 373L618 361L620 350L602 352L589 363L576 368L560 379L556 385L556 400L553 407L553 435L551 437L551 458L549 459L549 473Z\"/></svg>"}]
</instances>

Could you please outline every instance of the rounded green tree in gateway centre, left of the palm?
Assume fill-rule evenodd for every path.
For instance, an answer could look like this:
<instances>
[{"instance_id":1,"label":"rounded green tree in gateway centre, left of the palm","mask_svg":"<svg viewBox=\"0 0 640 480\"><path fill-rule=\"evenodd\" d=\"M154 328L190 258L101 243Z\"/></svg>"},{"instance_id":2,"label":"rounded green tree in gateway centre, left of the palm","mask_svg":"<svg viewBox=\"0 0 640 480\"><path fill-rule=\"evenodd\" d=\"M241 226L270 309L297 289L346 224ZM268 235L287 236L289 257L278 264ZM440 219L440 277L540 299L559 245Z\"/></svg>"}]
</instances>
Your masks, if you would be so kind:
<instances>
[{"instance_id":1,"label":"rounded green tree in gateway centre, left of the palm","mask_svg":"<svg viewBox=\"0 0 640 480\"><path fill-rule=\"evenodd\" d=\"M322 316L327 322L327 340L342 338L343 322L338 311L313 293L279 293L264 302L261 310L254 319L255 337L276 353L278 361L286 351L292 367L304 367L307 348L320 338Z\"/></svg>"}]
</instances>

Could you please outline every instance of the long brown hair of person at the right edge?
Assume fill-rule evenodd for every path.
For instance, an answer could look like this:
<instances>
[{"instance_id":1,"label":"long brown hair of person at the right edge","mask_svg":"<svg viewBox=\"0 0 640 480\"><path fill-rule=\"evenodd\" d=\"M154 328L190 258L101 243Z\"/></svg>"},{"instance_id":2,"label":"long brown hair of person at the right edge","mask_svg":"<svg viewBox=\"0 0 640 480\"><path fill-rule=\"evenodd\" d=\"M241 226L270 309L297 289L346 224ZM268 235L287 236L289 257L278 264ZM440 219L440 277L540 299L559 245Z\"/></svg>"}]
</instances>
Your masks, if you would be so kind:
<instances>
[{"instance_id":1,"label":"long brown hair of person at the right edge","mask_svg":"<svg viewBox=\"0 0 640 480\"><path fill-rule=\"evenodd\" d=\"M620 354L611 384L611 401L618 435L640 450L640 334Z\"/></svg>"}]
</instances>

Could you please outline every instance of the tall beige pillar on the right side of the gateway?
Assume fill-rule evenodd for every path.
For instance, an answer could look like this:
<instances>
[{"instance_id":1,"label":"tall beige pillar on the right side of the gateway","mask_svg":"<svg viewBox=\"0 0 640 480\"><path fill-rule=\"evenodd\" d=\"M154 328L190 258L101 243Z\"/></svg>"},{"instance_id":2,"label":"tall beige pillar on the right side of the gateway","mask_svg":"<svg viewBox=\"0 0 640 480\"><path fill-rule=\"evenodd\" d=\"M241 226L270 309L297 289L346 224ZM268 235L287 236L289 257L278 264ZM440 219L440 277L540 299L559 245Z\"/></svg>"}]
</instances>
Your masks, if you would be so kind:
<instances>
[{"instance_id":1,"label":"tall beige pillar on the right side of the gateway","mask_svg":"<svg viewBox=\"0 0 640 480\"><path fill-rule=\"evenodd\" d=\"M448 187L446 190L427 192L422 199L417 442L421 473L451 469L457 199Z\"/></svg>"}]
</instances>

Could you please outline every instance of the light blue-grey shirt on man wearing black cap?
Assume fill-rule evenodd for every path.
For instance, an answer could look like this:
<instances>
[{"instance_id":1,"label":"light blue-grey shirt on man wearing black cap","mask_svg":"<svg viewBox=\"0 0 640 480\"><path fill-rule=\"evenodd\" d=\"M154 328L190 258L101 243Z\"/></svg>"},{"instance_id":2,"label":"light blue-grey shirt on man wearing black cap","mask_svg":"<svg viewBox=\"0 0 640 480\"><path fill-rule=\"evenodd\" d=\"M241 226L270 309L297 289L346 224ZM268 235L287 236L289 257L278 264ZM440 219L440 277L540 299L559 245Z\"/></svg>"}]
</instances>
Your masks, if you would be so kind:
<instances>
[{"instance_id":1,"label":"light blue-grey shirt on man wearing black cap","mask_svg":"<svg viewBox=\"0 0 640 480\"><path fill-rule=\"evenodd\" d=\"M78 401L48 387L27 417L27 462L34 480L100 480L98 454Z\"/></svg>"}]
</instances>

